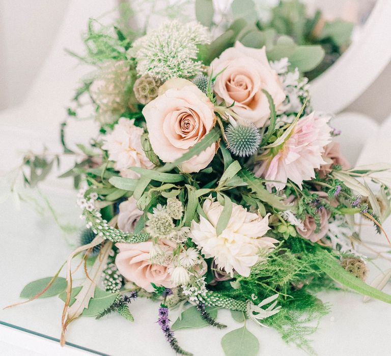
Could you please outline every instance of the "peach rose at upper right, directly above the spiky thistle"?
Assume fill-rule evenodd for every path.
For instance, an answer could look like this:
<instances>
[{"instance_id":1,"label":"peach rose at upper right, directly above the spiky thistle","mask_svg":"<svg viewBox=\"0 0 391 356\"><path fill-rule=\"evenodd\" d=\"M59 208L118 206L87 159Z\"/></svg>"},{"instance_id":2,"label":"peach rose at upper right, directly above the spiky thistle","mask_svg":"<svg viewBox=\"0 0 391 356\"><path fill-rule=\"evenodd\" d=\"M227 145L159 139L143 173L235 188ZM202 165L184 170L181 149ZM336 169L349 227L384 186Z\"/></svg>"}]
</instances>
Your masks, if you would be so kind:
<instances>
[{"instance_id":1,"label":"peach rose at upper right, directly above the spiky thistle","mask_svg":"<svg viewBox=\"0 0 391 356\"><path fill-rule=\"evenodd\" d=\"M227 106L235 102L235 111L243 124L252 122L263 127L270 117L269 102L262 90L273 98L276 109L285 100L285 93L277 73L270 68L265 47L249 48L236 42L212 61L210 71L217 75L213 90L218 103Z\"/></svg>"}]
</instances>

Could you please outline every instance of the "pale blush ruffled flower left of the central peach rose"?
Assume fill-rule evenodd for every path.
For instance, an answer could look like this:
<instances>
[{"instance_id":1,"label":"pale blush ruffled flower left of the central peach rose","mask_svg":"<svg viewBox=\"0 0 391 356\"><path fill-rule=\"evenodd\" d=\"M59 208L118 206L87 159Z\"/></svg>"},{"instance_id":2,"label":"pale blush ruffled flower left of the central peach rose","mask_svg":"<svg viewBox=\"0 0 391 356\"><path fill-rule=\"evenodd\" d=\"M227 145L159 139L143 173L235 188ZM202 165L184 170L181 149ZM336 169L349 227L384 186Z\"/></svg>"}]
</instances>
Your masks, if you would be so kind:
<instances>
[{"instance_id":1,"label":"pale blush ruffled flower left of the central peach rose","mask_svg":"<svg viewBox=\"0 0 391 356\"><path fill-rule=\"evenodd\" d=\"M114 161L114 168L128 178L139 175L130 167L153 168L154 164L147 158L141 143L144 130L134 125L134 119L120 118L113 131L103 136L102 149L108 152L108 159Z\"/></svg>"}]
</instances>

